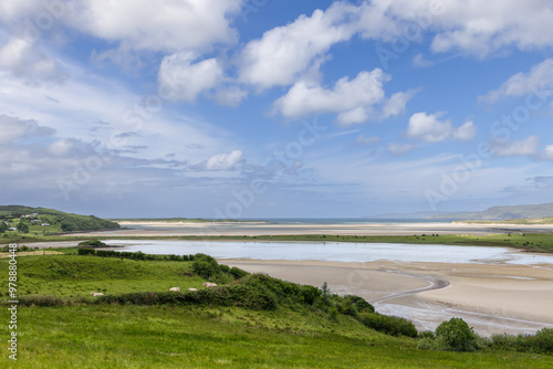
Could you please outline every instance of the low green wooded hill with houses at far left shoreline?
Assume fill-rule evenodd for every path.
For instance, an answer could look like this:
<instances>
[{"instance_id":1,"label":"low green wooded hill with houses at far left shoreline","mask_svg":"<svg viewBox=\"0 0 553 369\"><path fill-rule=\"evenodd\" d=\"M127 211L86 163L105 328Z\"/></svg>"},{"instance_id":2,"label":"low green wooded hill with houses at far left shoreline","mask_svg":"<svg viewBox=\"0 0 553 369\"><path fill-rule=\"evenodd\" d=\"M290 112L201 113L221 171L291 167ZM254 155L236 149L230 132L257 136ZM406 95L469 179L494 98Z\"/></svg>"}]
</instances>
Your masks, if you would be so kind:
<instances>
[{"instance_id":1,"label":"low green wooded hill with houses at far left shoreline","mask_svg":"<svg viewBox=\"0 0 553 369\"><path fill-rule=\"evenodd\" d=\"M105 219L100 219L94 215L80 215L66 213L55 209L31 208L24 205L0 205L0 220L11 221L13 226L17 222L28 222L31 226L33 220L40 220L39 223L48 223L48 229L61 232L77 232L77 231L98 231L118 229L121 225ZM44 228L46 229L46 228Z\"/></svg>"}]
</instances>

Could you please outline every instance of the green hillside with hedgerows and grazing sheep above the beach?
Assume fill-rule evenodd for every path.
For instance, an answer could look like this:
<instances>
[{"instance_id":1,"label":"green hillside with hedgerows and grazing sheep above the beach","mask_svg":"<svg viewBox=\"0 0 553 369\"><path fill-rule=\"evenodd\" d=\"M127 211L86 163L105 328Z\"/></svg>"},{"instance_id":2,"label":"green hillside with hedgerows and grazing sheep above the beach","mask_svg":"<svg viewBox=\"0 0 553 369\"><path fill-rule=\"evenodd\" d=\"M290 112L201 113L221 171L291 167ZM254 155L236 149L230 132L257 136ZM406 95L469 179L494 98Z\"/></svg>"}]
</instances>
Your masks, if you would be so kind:
<instances>
[{"instance_id":1,"label":"green hillside with hedgerows and grazing sheep above the beach","mask_svg":"<svg viewBox=\"0 0 553 369\"><path fill-rule=\"evenodd\" d=\"M517 352L517 337L498 339L501 347L481 340L478 352L422 350L417 347L430 334L401 335L392 328L408 327L406 320L375 314L364 301L238 273L207 255L64 252L18 257L18 361L2 355L2 368L553 366L552 355ZM0 260L0 270L7 268L8 260ZM7 278L8 273L0 275L4 285ZM219 286L204 287L207 280ZM168 292L173 286L181 292ZM91 291L105 296L92 297ZM2 337L9 334L8 325L0 326ZM544 345L534 345L535 352L551 352L551 338L536 340ZM2 339L0 349L7 348Z\"/></svg>"}]
</instances>

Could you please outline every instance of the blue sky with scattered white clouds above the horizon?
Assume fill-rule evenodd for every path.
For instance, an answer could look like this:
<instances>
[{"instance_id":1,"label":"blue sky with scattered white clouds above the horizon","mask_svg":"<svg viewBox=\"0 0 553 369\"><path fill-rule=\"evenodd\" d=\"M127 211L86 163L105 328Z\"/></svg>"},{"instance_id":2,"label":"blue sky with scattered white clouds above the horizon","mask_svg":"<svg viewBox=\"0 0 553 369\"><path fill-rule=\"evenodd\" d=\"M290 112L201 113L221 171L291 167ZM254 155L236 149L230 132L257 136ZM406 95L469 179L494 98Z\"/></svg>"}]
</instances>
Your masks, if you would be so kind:
<instances>
[{"instance_id":1,"label":"blue sky with scattered white clouds above the horizon","mask_svg":"<svg viewBox=\"0 0 553 369\"><path fill-rule=\"evenodd\" d=\"M553 201L545 0L6 0L1 203L356 218Z\"/></svg>"}]
</instances>

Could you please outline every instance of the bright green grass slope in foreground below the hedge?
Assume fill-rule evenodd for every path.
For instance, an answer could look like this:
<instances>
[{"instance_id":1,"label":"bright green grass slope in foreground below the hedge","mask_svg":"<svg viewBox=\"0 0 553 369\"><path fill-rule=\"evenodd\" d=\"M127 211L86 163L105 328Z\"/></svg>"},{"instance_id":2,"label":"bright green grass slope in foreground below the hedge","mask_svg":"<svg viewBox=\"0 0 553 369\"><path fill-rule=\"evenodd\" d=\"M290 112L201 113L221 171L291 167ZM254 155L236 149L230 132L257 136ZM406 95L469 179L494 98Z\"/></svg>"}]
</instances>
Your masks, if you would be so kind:
<instances>
[{"instance_id":1,"label":"bright green grass slope in foreground below the hedge","mask_svg":"<svg viewBox=\"0 0 553 369\"><path fill-rule=\"evenodd\" d=\"M539 355L421 351L414 339L377 334L345 319L319 321L285 310L32 307L21 309L20 320L18 362L13 365L3 354L2 368L551 368L553 365L553 358ZM296 324L305 328L294 331Z\"/></svg>"}]
</instances>

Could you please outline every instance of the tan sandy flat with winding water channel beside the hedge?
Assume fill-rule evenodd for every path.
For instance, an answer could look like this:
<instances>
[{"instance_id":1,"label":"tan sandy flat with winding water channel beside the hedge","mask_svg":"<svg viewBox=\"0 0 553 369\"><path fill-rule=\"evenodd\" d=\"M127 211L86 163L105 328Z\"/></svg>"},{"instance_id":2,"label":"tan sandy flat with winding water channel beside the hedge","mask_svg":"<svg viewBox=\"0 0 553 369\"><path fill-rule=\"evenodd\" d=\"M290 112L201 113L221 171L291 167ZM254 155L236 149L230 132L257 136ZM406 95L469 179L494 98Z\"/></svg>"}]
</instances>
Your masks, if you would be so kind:
<instances>
[{"instance_id":1,"label":"tan sandy flat with winding water channel beside the hedge","mask_svg":"<svg viewBox=\"0 0 553 369\"><path fill-rule=\"evenodd\" d=\"M383 314L401 316L419 330L451 317L482 336L531 334L553 327L553 265L446 263L335 263L221 260L252 273L364 297Z\"/></svg>"}]
</instances>

